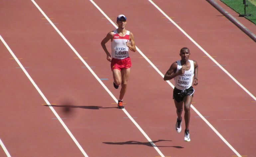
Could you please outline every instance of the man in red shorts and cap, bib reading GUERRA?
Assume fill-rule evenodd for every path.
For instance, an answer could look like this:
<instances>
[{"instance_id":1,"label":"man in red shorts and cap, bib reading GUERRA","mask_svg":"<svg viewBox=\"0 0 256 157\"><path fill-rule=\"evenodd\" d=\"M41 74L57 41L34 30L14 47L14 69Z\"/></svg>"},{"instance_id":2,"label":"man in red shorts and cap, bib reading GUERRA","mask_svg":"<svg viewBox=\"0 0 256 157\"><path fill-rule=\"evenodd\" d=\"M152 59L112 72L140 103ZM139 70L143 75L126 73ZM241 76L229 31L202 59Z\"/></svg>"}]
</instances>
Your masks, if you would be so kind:
<instances>
[{"instance_id":1,"label":"man in red shorts and cap, bib reading GUERRA","mask_svg":"<svg viewBox=\"0 0 256 157\"><path fill-rule=\"evenodd\" d=\"M129 50L135 52L136 46L132 32L125 29L126 17L119 15L116 19L118 28L107 34L101 41L101 46L107 54L107 60L111 62L111 70L113 73L113 85L118 89L121 85L120 96L117 107L124 108L123 98L127 90L127 81L130 75L130 67L132 65L129 57ZM111 39L111 55L106 48L106 43Z\"/></svg>"}]
</instances>

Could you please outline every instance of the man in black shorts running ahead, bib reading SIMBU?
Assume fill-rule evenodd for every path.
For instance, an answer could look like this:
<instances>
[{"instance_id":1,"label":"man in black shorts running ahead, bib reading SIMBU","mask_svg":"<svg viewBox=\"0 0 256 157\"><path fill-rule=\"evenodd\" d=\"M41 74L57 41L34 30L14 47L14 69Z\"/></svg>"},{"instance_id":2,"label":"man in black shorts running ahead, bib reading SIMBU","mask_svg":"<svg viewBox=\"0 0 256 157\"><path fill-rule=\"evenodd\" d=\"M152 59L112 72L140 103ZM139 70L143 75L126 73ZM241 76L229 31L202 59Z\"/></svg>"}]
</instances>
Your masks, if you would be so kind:
<instances>
[{"instance_id":1,"label":"man in black shorts running ahead, bib reading SIMBU","mask_svg":"<svg viewBox=\"0 0 256 157\"><path fill-rule=\"evenodd\" d=\"M190 105L192 102L194 88L197 83L198 65L195 60L189 60L190 51L188 48L182 48L180 51L181 60L172 63L169 70L164 76L164 80L175 80L175 88L173 90L173 99L176 106L177 122L176 131L181 132L183 104L185 110L185 141L190 141L189 123L190 123ZM193 79L194 77L194 79Z\"/></svg>"}]
</instances>

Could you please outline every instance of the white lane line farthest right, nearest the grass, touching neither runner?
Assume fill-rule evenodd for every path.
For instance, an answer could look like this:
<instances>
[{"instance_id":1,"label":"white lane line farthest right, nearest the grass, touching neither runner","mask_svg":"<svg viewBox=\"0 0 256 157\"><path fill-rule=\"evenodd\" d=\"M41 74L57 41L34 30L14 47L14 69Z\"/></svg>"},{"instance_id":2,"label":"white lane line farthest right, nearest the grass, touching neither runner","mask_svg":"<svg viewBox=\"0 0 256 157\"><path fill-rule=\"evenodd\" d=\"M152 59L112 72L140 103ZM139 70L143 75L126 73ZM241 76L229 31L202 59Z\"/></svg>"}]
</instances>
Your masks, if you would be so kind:
<instances>
[{"instance_id":1,"label":"white lane line farthest right, nearest the grass, touching neither runner","mask_svg":"<svg viewBox=\"0 0 256 157\"><path fill-rule=\"evenodd\" d=\"M178 24L176 24L167 14L162 11L152 0L148 0L152 3L168 20L170 20L180 31L185 34L205 55L207 55L215 64L217 64L221 70L223 70L236 84L238 84L247 94L249 94L254 100L256 97L252 95L241 83L239 83L226 69L224 69L215 59L213 59L199 44L197 44Z\"/></svg>"}]
</instances>

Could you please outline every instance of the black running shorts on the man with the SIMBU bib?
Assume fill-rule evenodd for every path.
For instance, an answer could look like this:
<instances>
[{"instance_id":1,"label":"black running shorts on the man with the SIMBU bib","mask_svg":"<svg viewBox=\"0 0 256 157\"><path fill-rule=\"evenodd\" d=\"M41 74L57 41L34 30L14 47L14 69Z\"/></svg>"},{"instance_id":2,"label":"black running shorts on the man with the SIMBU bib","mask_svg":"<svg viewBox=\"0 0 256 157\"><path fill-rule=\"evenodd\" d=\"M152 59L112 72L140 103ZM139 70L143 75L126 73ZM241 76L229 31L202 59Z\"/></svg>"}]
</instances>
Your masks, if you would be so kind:
<instances>
[{"instance_id":1,"label":"black running shorts on the man with the SIMBU bib","mask_svg":"<svg viewBox=\"0 0 256 157\"><path fill-rule=\"evenodd\" d=\"M194 91L195 90L192 86L186 90L179 90L175 87L173 90L173 99L177 102L181 102L185 96L193 96Z\"/></svg>"}]
</instances>

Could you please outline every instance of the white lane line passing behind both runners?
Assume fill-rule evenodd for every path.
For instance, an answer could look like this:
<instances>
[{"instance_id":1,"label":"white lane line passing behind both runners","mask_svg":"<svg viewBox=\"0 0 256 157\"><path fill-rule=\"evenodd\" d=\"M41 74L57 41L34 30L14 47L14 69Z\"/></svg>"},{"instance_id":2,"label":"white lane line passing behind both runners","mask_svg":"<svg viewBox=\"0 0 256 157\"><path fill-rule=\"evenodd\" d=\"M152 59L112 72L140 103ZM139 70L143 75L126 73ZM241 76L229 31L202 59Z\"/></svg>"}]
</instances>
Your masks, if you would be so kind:
<instances>
[{"instance_id":1,"label":"white lane line passing behind both runners","mask_svg":"<svg viewBox=\"0 0 256 157\"><path fill-rule=\"evenodd\" d=\"M95 7L108 19L116 28L118 28L110 18L92 1L90 0ZM159 8L160 9L160 8ZM162 11L163 12L163 11ZM166 14L165 14L166 15ZM167 16L167 15L166 15ZM169 18L167 16L167 18ZM171 19L171 18L169 18ZM178 25L177 25L178 26ZM136 46L137 51L150 63L150 65L164 78L164 74L140 51L140 49ZM207 55L208 57L211 57L210 55ZM174 88L174 85L170 81L166 81L172 88ZM228 142L227 140L220 135L220 133L201 115L201 113L191 104L192 109L204 120L204 122L229 146L229 148L236 153L236 155L240 155Z\"/></svg>"}]
</instances>

